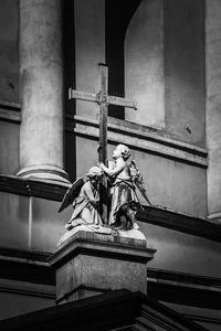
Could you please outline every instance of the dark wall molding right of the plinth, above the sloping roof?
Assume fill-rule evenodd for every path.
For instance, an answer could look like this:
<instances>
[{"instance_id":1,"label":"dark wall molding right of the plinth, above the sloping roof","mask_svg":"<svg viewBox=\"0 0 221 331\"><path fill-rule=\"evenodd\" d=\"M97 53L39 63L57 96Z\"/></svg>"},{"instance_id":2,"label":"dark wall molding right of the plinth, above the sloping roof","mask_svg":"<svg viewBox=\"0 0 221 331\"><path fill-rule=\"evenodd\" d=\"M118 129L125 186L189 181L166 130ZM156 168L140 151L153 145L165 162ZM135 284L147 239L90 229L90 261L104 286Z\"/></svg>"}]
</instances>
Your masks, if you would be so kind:
<instances>
[{"instance_id":1,"label":"dark wall molding right of the plinth, above the sloping roof","mask_svg":"<svg viewBox=\"0 0 221 331\"><path fill-rule=\"evenodd\" d=\"M221 278L147 268L147 288L165 305L220 309Z\"/></svg>"}]
</instances>

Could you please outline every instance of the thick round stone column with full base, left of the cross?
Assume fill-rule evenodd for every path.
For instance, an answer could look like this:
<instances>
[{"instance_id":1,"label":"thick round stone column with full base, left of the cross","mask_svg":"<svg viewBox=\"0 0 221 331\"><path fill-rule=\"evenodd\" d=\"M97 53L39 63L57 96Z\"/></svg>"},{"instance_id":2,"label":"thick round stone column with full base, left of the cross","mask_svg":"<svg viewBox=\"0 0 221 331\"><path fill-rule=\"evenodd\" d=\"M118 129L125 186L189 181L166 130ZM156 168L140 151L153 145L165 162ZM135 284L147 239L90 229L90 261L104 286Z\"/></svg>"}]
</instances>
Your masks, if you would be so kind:
<instances>
[{"instance_id":1,"label":"thick round stone column with full base, left of the cross","mask_svg":"<svg viewBox=\"0 0 221 331\"><path fill-rule=\"evenodd\" d=\"M20 1L21 177L67 181L63 170L61 0Z\"/></svg>"}]
</instances>

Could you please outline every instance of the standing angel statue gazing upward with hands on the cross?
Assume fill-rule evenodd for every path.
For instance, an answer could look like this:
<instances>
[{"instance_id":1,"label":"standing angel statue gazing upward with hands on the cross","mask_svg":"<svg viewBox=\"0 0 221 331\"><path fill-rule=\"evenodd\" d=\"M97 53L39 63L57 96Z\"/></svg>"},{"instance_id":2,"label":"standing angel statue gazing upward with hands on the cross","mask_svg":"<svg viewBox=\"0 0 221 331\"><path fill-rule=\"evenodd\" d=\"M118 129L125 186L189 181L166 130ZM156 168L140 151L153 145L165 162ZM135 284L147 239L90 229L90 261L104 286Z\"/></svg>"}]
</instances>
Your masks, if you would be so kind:
<instances>
[{"instance_id":1,"label":"standing angel statue gazing upward with hands on the cross","mask_svg":"<svg viewBox=\"0 0 221 331\"><path fill-rule=\"evenodd\" d=\"M98 163L110 182L112 206L109 213L109 225L115 229L138 228L136 211L141 206L136 193L136 188L150 204L144 180L135 161L130 164L127 160L130 152L127 146L118 145L113 152L115 162L107 168L104 163Z\"/></svg>"}]
</instances>

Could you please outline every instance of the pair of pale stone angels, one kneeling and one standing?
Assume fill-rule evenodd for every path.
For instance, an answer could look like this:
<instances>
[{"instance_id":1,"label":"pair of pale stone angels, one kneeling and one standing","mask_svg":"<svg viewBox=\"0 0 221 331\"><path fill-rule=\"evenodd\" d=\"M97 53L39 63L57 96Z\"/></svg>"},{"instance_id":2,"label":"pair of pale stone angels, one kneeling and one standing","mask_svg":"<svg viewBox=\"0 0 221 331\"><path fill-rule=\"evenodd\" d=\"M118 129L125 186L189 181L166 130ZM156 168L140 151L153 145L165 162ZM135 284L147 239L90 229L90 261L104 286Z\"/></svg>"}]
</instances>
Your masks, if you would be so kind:
<instances>
[{"instance_id":1,"label":"pair of pale stone angels, one kneeling and one standing","mask_svg":"<svg viewBox=\"0 0 221 331\"><path fill-rule=\"evenodd\" d=\"M87 181L83 178L75 181L66 192L60 207L60 212L71 203L73 204L73 214L65 225L65 229L70 231L78 225L86 225L96 231L101 227L112 229L128 231L138 228L136 220L136 211L141 205L139 203L136 189L150 204L144 180L135 161L127 163L130 152L127 146L118 145L114 152L114 162L109 162L108 168L98 162L90 169ZM102 220L99 213L99 183L103 177L107 177L110 194L110 211L108 223ZM107 224L106 224L107 223Z\"/></svg>"}]
</instances>

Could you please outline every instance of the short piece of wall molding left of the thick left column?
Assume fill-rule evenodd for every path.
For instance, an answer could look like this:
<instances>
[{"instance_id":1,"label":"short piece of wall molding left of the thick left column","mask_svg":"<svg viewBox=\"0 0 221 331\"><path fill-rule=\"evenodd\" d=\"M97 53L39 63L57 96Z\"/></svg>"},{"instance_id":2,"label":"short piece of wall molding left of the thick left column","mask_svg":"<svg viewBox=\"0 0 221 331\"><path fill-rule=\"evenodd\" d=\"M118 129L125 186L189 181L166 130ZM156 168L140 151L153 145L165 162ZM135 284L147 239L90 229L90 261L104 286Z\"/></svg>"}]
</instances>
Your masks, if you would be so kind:
<instances>
[{"instance_id":1,"label":"short piece of wall molding left of the thick left column","mask_svg":"<svg viewBox=\"0 0 221 331\"><path fill-rule=\"evenodd\" d=\"M0 120L21 122L21 105L0 99Z\"/></svg>"}]
</instances>

